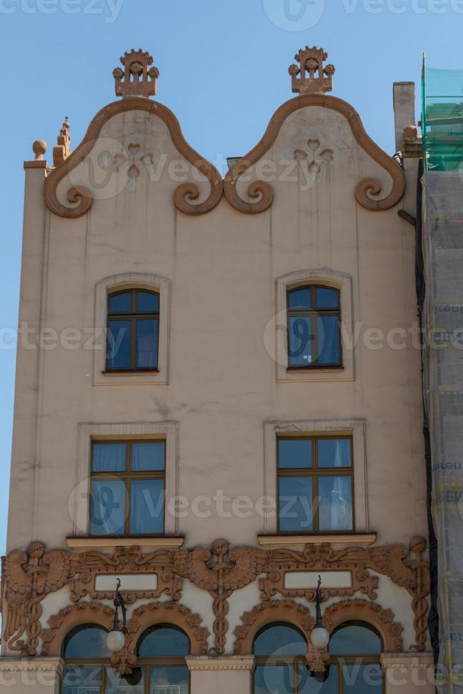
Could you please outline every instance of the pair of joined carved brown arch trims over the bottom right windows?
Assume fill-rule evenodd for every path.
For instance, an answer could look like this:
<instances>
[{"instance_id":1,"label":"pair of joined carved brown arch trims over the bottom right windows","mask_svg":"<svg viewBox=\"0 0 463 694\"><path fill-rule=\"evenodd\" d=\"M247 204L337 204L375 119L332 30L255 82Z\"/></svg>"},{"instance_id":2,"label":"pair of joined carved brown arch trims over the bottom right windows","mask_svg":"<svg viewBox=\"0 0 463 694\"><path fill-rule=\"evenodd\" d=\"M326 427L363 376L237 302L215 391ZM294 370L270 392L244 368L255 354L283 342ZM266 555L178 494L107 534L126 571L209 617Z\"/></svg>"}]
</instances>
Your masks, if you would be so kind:
<instances>
[{"instance_id":1,"label":"pair of joined carved brown arch trims over the bottom right windows","mask_svg":"<svg viewBox=\"0 0 463 694\"><path fill-rule=\"evenodd\" d=\"M344 600L334 603L323 615L324 626L331 634L344 622L360 620L371 624L382 636L384 649L389 653L401 652L404 649L401 637L404 629L394 619L392 610L384 610L378 603L366 600ZM260 603L251 612L241 615L241 624L234 630L234 653L252 653L256 635L272 622L287 622L297 627L306 637L309 648L311 631L315 626L310 611L292 600L271 600Z\"/></svg>"}]
</instances>

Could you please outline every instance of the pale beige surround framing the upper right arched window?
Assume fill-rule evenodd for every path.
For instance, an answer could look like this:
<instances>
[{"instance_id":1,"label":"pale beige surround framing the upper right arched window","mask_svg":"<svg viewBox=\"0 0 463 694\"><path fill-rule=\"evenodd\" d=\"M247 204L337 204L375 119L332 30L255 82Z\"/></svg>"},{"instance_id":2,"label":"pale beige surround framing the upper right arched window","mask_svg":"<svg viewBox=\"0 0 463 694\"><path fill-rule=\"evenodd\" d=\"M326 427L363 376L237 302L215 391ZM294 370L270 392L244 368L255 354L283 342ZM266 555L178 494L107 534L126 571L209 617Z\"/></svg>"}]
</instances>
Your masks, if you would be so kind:
<instances>
[{"instance_id":1,"label":"pale beige surround framing the upper right arched window","mask_svg":"<svg viewBox=\"0 0 463 694\"><path fill-rule=\"evenodd\" d=\"M287 293L291 290L317 285L339 291L341 307L341 366L316 365L292 367L288 355L288 312ZM278 383L313 381L355 380L355 340L353 310L353 279L347 273L327 270L298 270L280 275L275 280L275 316L269 322L264 336L268 351L275 360ZM271 334L274 333L274 353Z\"/></svg>"}]
</instances>

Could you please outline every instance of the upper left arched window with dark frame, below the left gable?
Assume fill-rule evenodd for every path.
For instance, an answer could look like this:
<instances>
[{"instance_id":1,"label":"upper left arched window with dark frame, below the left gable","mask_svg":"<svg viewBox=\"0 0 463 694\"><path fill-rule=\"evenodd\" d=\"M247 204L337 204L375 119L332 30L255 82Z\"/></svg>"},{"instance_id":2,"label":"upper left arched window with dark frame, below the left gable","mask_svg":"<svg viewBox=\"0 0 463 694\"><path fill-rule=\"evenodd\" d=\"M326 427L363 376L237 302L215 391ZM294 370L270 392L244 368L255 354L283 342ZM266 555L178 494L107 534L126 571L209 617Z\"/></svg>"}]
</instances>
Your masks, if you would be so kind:
<instances>
[{"instance_id":1,"label":"upper left arched window with dark frame, below the left gable","mask_svg":"<svg viewBox=\"0 0 463 694\"><path fill-rule=\"evenodd\" d=\"M156 371L159 294L142 289L108 295L107 371Z\"/></svg>"}]
</instances>

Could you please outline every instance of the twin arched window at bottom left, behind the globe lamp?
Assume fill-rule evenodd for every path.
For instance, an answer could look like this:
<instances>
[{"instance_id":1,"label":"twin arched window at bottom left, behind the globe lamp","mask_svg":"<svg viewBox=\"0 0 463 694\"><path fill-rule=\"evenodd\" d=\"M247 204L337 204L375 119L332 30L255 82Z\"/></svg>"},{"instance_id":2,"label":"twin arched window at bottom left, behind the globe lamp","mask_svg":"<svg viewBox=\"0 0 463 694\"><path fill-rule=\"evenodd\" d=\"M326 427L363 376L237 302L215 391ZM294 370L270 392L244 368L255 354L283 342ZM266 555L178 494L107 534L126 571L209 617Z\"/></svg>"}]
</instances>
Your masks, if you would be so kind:
<instances>
[{"instance_id":1,"label":"twin arched window at bottom left, behind the globe lamp","mask_svg":"<svg viewBox=\"0 0 463 694\"><path fill-rule=\"evenodd\" d=\"M185 656L190 641L183 631L162 624L145 632L137 647L137 666L123 677L111 666L106 633L95 625L69 633L64 642L61 694L189 694Z\"/></svg>"}]
</instances>

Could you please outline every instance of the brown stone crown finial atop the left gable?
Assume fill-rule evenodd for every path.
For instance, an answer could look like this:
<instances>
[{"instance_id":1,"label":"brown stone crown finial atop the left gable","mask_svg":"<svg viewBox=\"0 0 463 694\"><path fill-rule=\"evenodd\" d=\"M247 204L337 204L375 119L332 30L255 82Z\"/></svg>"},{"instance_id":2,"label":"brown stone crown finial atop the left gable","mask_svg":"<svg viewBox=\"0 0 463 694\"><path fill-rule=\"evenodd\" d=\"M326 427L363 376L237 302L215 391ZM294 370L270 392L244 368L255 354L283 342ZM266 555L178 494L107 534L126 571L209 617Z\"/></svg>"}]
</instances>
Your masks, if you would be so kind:
<instances>
[{"instance_id":1,"label":"brown stone crown finial atop the left gable","mask_svg":"<svg viewBox=\"0 0 463 694\"><path fill-rule=\"evenodd\" d=\"M148 52L132 50L126 52L124 57L121 57L120 62L124 66L124 70L116 67L113 71L115 79L116 96L122 98L130 98L131 96L142 96L149 98L156 94L156 80L159 77L157 67L149 68L153 58Z\"/></svg>"}]
</instances>

